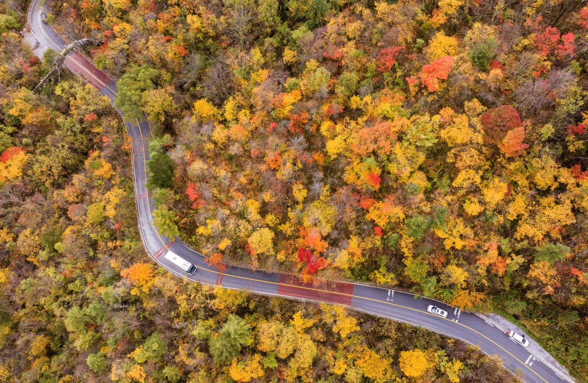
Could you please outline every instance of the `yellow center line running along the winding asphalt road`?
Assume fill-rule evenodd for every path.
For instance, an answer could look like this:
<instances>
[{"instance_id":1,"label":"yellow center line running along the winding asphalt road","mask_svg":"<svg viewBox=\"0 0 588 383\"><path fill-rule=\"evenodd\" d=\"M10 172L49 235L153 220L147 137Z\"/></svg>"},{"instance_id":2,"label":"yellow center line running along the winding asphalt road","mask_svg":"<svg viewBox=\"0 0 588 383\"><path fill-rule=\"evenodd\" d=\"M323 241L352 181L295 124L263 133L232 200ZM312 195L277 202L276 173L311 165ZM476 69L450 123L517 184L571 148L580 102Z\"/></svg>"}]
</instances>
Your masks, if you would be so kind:
<instances>
[{"instance_id":1,"label":"yellow center line running along the winding asphalt road","mask_svg":"<svg viewBox=\"0 0 588 383\"><path fill-rule=\"evenodd\" d=\"M40 18L41 16L39 16ZM45 34L45 36L47 36L47 38L49 40L51 40L51 42L53 42L53 44L55 44L55 41L53 41L51 39L51 37L46 34L45 29L42 28L41 26L41 30L43 31L43 33ZM55 44L55 46L57 46L59 48L59 45ZM113 91L108 85L104 84L102 81L100 81L100 79L98 79L95 75L92 74L92 72L88 71L88 69L84 68L81 64L79 64L78 61L76 61L74 58L71 58L76 64L80 65L82 67L82 69L84 69L86 72L88 72L93 78L95 78L98 82L100 82L100 84L104 85L106 88L110 89L114 94L116 94L115 91ZM144 142L143 142L143 132L141 131L141 126L139 126L139 119L135 118L136 122L137 122L137 127L139 128L139 134L141 135L141 144L143 145L143 169L145 169L145 182L147 182L147 167L146 167L146 156L145 156L145 147L144 147ZM132 141L132 137L131 137L131 141ZM133 159L134 161L134 159ZM149 218L151 219L151 204L149 204L149 191L147 191L147 207L149 209ZM155 232L157 234L157 237L159 238L159 241L161 241L161 243L163 244L163 246L169 250L169 247L167 247L167 245L165 244L165 242L163 242L163 239L161 239L161 236L159 235L159 233L157 232L157 229L155 228L155 225L153 225L153 220L151 219L151 224L153 226L153 228L155 229ZM416 308L411 308L411 307L406 307L403 305L399 305L399 304L395 304L392 302L387 302L387 301L380 301L379 299L373 299L373 298L367 298L367 297L360 297L359 295L353 295L353 294L347 294L345 292L338 292L338 291L328 291L328 290L323 290L323 289L317 289L317 288L313 288L313 287L303 287L303 286L298 286L298 285L290 285L290 284L280 284L279 282L272 282L272 281L263 281L261 279L255 279L255 278L248 278L248 277L240 277L239 275L232 275L232 274L226 274L225 272L219 272L219 271L213 271L211 269L207 269L205 267L199 267L200 269L203 269L205 271L208 272L212 272L214 274L220 274L223 276L229 276L229 277L233 277L233 278L239 278L239 279L245 279L248 281L253 281L253 282L262 282L262 283L266 283L266 284L272 284L272 285L282 285L285 287L295 287L295 288L300 288L300 289L307 289L307 290L311 290L311 291L319 291L319 292L328 292L330 294L337 294L337 295L343 295L345 297L352 297L352 298L358 298L358 299L365 299L367 301L373 301L373 302L378 302L381 304L387 304L387 305L391 305L391 306L395 306L395 307L401 307L401 308L406 308L412 311L416 311L416 312L421 312L423 314L427 314L427 315L431 315L433 317L437 318L437 315L433 315L430 312L427 311L422 311ZM465 327L473 332L475 332L476 334L480 335L481 337L487 339L488 341L492 342L493 344L495 344L497 347L499 347L500 349L502 349L503 351L505 351L507 354L509 354L511 357L515 358L516 361L519 361L521 364L523 364L525 367L527 367L530 371L532 371L535 375L537 375L537 377L539 377L540 379L542 379L542 381L544 381L545 383L549 383L547 382L545 379L543 379L543 377L541 377L541 375L537 374L537 372L535 372L532 368L530 368L528 365L524 364L519 358L515 357L515 355L511 354L509 351L507 351L505 348L503 348L501 345L497 344L495 341L493 341L492 339L486 337L486 335L476 331L475 329L466 326L465 324L459 323L459 322L454 322L450 319L447 318L440 318L440 319L444 319L445 321L449 321L452 322L454 324L460 325L462 327Z\"/></svg>"}]
</instances>

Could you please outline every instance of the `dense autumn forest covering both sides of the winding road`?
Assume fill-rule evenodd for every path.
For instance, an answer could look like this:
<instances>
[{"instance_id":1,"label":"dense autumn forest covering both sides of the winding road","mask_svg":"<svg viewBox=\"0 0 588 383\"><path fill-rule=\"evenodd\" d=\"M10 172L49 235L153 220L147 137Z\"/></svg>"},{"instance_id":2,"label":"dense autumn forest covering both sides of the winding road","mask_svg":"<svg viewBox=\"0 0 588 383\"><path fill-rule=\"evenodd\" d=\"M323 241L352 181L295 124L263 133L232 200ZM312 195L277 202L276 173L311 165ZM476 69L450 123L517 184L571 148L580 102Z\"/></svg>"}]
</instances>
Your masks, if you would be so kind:
<instances>
[{"instance_id":1,"label":"dense autumn forest covering both sides of the winding road","mask_svg":"<svg viewBox=\"0 0 588 383\"><path fill-rule=\"evenodd\" d=\"M515 314L586 380L584 3L45 2L66 38L102 39L86 54L119 79L116 106L152 122L160 231L181 235L219 268L373 282ZM98 371L64 372L72 381L189 381L201 371L202 381L453 382L497 368L470 351L452 354L456 344L435 335L386 348L391 335L370 332L374 319L281 301L256 308L265 298L181 284L142 263L122 123L74 79L32 94L55 52L39 61L20 48L10 31L24 25L25 10L8 1L0 15L3 349L37 342L41 351L5 372L57 381L58 361L71 355ZM158 312L158 299L174 308ZM240 303L225 310L222 299ZM288 305L290 317L272 324L268 305ZM297 321L316 323L290 324L299 311ZM360 329L336 329L354 320ZM36 331L51 335L36 341ZM298 334L288 354L262 341L288 331ZM228 332L242 334L223 345L239 355L234 362L219 359L226 350L212 341ZM427 337L441 343L421 346ZM165 339L177 339L165 349L177 348L179 359L143 354ZM312 351L302 346L309 339L318 353L291 357ZM362 339L369 362L354 354ZM340 354L329 359L320 347ZM415 348L422 355L402 358ZM178 356L186 352L192 365ZM387 367L376 377L362 363ZM409 372L416 365L425 367Z\"/></svg>"}]
</instances>

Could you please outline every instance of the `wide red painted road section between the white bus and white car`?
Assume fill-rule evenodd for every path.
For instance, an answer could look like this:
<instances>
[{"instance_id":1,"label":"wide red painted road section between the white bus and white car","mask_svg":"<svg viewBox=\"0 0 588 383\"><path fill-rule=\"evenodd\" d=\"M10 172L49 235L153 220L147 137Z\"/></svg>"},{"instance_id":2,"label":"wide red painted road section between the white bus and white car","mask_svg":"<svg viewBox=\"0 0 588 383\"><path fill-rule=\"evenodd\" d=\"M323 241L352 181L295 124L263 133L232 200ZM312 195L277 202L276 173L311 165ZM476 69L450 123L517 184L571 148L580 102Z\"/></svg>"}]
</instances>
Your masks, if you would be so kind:
<instances>
[{"instance_id":1,"label":"wide red painted road section between the white bus and white car","mask_svg":"<svg viewBox=\"0 0 588 383\"><path fill-rule=\"evenodd\" d=\"M335 294L335 292L339 294ZM349 306L353 294L353 284L328 282L326 285L316 286L303 284L299 278L293 275L280 274L278 294Z\"/></svg>"}]
</instances>

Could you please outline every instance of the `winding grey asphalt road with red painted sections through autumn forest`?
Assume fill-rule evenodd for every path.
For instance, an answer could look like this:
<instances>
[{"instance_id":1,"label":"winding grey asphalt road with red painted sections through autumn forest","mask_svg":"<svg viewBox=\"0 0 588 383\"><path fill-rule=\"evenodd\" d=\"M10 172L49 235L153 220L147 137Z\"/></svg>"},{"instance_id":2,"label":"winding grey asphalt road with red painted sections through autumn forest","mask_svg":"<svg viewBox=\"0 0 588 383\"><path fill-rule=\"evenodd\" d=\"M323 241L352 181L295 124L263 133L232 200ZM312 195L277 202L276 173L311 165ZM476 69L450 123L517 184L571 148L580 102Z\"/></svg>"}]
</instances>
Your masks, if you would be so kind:
<instances>
[{"instance_id":1,"label":"winding grey asphalt road with red painted sections through autumn forest","mask_svg":"<svg viewBox=\"0 0 588 383\"><path fill-rule=\"evenodd\" d=\"M42 24L39 0L32 1L29 9L29 28L41 44L61 51L65 41L49 25ZM95 68L91 61L74 52L65 64L83 79L96 86L111 101L116 97L116 82ZM510 371L517 371L526 383L560 383L570 381L549 364L542 362L526 348L515 344L500 329L467 311L462 311L433 299L377 288L362 284L327 281L320 285L303 285L287 274L253 271L249 268L227 265L223 272L208 266L206 257L184 245L178 238L159 235L153 227L153 201L146 184L146 162L149 160L148 138L151 129L147 121L125 121L132 138L132 169L135 185L135 202L139 231L146 252L163 268L190 281L208 285L220 285L230 289L246 289L255 294L273 295L292 299L306 299L347 305L350 308L379 317L392 319L460 339L478 345L488 355L498 355ZM198 270L193 275L167 261L163 255L173 251L192 262ZM447 318L440 318L426 311L429 304L445 309Z\"/></svg>"}]
</instances>

